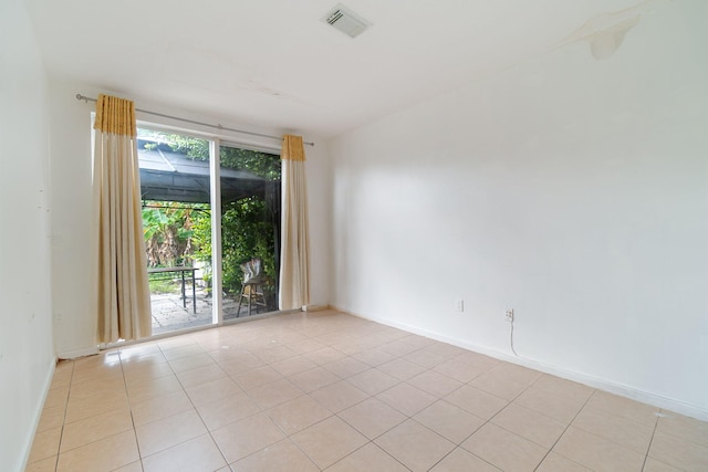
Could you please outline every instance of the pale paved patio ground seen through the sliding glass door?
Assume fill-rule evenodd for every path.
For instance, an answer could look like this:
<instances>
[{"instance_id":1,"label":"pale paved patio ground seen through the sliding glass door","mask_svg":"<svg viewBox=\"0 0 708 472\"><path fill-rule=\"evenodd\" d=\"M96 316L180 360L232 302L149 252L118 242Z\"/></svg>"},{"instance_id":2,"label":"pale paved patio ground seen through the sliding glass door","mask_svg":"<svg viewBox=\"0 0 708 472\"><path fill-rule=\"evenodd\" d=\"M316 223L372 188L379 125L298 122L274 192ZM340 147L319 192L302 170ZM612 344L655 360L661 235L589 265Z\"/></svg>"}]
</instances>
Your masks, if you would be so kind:
<instances>
[{"instance_id":1,"label":"pale paved patio ground seen through the sliding glass door","mask_svg":"<svg viewBox=\"0 0 708 472\"><path fill-rule=\"evenodd\" d=\"M205 290L197 285L196 300L197 310L192 308L191 287L186 287L186 306L183 303L181 293L179 291L173 293L150 294L150 307L153 312L153 334L162 334L178 329L191 328L196 326L205 326L211 324L211 296ZM241 304L240 313L238 312L238 297L223 297L223 318L233 319L237 317L248 316L248 305ZM264 313L262 310L259 314ZM251 316L256 315L256 308L251 307Z\"/></svg>"}]
</instances>

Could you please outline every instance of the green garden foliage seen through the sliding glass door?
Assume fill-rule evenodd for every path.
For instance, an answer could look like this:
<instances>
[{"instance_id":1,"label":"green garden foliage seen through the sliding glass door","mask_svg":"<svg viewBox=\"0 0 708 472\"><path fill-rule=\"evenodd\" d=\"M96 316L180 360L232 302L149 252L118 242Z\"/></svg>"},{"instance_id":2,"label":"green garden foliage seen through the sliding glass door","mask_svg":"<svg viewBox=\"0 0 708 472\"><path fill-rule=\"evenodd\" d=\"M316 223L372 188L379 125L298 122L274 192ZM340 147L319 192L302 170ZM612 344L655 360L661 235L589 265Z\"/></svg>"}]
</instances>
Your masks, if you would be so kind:
<instances>
[{"instance_id":1,"label":"green garden foliage seen through the sliding glass door","mask_svg":"<svg viewBox=\"0 0 708 472\"><path fill-rule=\"evenodd\" d=\"M155 138L159 144L147 146L169 146L195 160L209 159L209 141L189 136L159 132L138 130L142 136ZM270 181L280 181L280 156L249 149L221 146L219 150L221 168L246 170ZM221 254L223 264L223 291L238 294L243 274L241 264L252 258L262 261L266 277L267 298L275 310L275 233L280 218L280 202L277 198L251 196L225 203L221 208ZM188 264L191 261L205 263L204 279L211 276L211 221L208 204L183 202L150 202L143 211L145 240L150 265ZM171 258L171 259L170 259Z\"/></svg>"}]
</instances>

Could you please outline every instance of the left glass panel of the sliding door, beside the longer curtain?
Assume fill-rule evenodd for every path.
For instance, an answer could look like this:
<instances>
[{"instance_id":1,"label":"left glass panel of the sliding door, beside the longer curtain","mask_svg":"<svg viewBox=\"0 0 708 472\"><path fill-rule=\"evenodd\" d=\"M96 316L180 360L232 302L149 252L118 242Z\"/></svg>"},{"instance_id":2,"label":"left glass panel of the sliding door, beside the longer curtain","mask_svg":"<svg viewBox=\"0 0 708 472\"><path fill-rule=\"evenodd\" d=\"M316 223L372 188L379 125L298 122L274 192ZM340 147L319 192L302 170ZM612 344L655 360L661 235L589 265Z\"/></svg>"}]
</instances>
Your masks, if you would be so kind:
<instances>
[{"instance_id":1,"label":"left glass panel of the sliding door, beside the longer curtain","mask_svg":"<svg viewBox=\"0 0 708 472\"><path fill-rule=\"evenodd\" d=\"M138 129L153 334L212 323L209 141Z\"/></svg>"}]
</instances>

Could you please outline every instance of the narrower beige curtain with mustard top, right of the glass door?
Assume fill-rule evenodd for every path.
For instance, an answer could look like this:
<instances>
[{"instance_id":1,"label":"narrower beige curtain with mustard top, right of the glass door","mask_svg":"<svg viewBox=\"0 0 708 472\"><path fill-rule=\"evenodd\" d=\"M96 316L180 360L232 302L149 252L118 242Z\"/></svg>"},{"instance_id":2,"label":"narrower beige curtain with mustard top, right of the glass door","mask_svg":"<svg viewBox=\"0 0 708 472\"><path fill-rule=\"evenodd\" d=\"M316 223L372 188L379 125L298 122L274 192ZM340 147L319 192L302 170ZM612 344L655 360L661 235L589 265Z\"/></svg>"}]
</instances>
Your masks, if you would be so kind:
<instances>
[{"instance_id":1,"label":"narrower beige curtain with mustard top, right of the glass door","mask_svg":"<svg viewBox=\"0 0 708 472\"><path fill-rule=\"evenodd\" d=\"M282 250L280 255L280 310L310 303L310 238L308 183L301 136L285 135L282 159Z\"/></svg>"}]
</instances>

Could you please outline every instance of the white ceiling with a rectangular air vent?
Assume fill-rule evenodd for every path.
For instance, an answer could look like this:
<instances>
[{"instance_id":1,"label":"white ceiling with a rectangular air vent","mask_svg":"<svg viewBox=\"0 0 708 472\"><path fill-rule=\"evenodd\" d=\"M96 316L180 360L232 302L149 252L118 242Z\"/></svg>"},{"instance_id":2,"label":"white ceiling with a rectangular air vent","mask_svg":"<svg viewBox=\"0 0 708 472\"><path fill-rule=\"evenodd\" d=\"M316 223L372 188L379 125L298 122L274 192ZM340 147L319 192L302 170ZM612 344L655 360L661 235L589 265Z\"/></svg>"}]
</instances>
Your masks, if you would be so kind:
<instances>
[{"instance_id":1,"label":"white ceiling with a rectangular air vent","mask_svg":"<svg viewBox=\"0 0 708 472\"><path fill-rule=\"evenodd\" d=\"M321 21L337 1L27 6L54 77L326 138L558 48L603 13L654 0L343 0L373 23L356 39Z\"/></svg>"}]
</instances>

